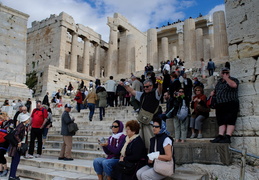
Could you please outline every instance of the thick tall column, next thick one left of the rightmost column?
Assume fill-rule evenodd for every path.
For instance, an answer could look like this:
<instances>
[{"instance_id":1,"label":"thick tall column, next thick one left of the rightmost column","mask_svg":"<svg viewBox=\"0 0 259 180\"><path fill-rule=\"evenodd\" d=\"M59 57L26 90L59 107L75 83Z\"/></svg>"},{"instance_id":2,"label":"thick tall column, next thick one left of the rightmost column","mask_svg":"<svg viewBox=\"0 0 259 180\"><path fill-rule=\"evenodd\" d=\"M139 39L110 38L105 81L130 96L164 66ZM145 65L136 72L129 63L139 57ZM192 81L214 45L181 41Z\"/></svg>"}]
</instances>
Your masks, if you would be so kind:
<instances>
[{"instance_id":1,"label":"thick tall column, next thick one left of the rightmost column","mask_svg":"<svg viewBox=\"0 0 259 180\"><path fill-rule=\"evenodd\" d=\"M195 36L195 20L186 19L184 21L184 61L187 68L195 65L194 61L197 57Z\"/></svg>"}]
</instances>

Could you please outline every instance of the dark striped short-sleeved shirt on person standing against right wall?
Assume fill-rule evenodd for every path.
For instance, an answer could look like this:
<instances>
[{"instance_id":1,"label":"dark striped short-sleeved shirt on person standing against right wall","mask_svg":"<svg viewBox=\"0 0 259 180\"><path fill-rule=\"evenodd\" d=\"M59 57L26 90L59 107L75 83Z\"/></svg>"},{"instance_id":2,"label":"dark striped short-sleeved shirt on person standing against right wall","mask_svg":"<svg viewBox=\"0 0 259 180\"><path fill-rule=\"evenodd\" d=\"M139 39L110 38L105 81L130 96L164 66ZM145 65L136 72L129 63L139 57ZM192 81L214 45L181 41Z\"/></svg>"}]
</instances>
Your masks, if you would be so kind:
<instances>
[{"instance_id":1,"label":"dark striped short-sleeved shirt on person standing against right wall","mask_svg":"<svg viewBox=\"0 0 259 180\"><path fill-rule=\"evenodd\" d=\"M217 103L226 103L231 101L238 101L238 79L234 77L229 77L232 81L237 84L237 88L231 88L226 81L222 78L219 79L215 86Z\"/></svg>"}]
</instances>

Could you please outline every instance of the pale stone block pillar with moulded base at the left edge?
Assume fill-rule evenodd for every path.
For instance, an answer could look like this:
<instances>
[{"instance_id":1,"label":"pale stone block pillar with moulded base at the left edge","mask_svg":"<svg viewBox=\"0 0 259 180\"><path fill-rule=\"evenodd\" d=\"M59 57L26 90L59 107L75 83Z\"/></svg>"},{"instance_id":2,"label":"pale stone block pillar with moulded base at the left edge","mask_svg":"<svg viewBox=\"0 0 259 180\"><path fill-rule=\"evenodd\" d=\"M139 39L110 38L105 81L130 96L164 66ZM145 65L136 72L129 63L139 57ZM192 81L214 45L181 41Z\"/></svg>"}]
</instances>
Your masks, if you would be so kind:
<instances>
[{"instance_id":1,"label":"pale stone block pillar with moulded base at the left edge","mask_svg":"<svg viewBox=\"0 0 259 180\"><path fill-rule=\"evenodd\" d=\"M29 15L0 3L0 98L31 97L26 79L26 33Z\"/></svg>"}]
</instances>

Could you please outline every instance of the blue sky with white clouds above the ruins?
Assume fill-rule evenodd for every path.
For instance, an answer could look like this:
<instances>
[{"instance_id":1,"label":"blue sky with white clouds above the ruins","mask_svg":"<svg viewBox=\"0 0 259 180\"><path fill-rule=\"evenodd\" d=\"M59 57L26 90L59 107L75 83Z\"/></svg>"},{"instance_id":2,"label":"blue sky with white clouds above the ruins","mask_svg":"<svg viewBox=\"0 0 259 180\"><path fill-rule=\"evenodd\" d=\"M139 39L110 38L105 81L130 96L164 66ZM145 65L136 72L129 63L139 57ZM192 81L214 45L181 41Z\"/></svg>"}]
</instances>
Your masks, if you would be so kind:
<instances>
[{"instance_id":1,"label":"blue sky with white clouds above the ruins","mask_svg":"<svg viewBox=\"0 0 259 180\"><path fill-rule=\"evenodd\" d=\"M141 31L161 27L167 22L195 18L199 13L207 15L224 10L224 0L0 0L5 6L30 15L31 22L41 21L50 14L64 11L76 23L83 24L109 39L107 17L115 12L125 16Z\"/></svg>"}]
</instances>

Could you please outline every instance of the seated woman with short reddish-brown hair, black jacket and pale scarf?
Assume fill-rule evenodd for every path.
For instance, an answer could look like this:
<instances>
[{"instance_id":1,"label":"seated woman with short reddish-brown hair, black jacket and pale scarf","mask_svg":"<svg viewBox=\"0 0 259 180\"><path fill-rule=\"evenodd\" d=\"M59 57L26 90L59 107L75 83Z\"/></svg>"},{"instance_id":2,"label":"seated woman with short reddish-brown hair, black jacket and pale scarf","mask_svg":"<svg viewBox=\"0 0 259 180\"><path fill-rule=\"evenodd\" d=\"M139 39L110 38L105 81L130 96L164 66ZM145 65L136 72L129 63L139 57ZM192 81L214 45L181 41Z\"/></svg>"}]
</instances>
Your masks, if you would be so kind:
<instances>
[{"instance_id":1,"label":"seated woman with short reddish-brown hair, black jacket and pale scarf","mask_svg":"<svg viewBox=\"0 0 259 180\"><path fill-rule=\"evenodd\" d=\"M120 162L117 164L115 174L117 180L135 180L138 169L146 164L146 148L143 140L139 136L140 125L138 121L131 120L126 123L126 142L121 149ZM130 171L124 171L122 165L131 165ZM124 166L125 167L125 166ZM125 167L126 168L126 167Z\"/></svg>"}]
</instances>

